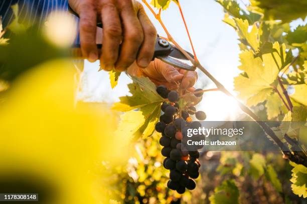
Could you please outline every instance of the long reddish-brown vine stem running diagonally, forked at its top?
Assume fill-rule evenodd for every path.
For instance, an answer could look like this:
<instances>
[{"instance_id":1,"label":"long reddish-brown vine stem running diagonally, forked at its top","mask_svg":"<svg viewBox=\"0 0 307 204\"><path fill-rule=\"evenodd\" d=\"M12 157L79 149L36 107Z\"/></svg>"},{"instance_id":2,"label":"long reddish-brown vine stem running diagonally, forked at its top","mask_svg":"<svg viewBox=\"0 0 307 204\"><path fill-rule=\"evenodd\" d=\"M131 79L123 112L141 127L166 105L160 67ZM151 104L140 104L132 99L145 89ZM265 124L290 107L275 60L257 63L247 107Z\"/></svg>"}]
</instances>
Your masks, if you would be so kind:
<instances>
[{"instance_id":1,"label":"long reddish-brown vine stem running diagonally, forked at its top","mask_svg":"<svg viewBox=\"0 0 307 204\"><path fill-rule=\"evenodd\" d=\"M307 158L306 158L306 155L304 155L303 153L299 153L298 151L291 151L288 147L287 144L283 143L275 134L275 132L264 122L264 121L261 121L260 118L249 108L247 107L245 104L243 104L241 101L239 101L234 95L232 95L230 93L230 91L228 91L221 82L219 82L204 66L202 66L202 64L199 62L198 58L197 58L197 55L196 55L196 52L195 52L195 49L194 49L194 46L193 46L193 43L192 43L192 39L191 39L191 36L190 36L190 33L189 33L189 29L187 27L187 24L186 24L186 20L185 20L185 17L183 15L183 11L182 11L182 8L181 8L181 5L180 5L180 2L179 0L176 1L178 7L179 7L179 10L180 10L180 13L181 13L181 16L182 16L182 19L184 21L184 24L185 24L185 27L186 27L186 31L188 33L188 36L189 36L189 40L190 40L190 43L191 43L191 46L192 46L192 49L193 49L193 53L194 53L194 59L175 41L175 39L173 38L173 36L170 34L169 30L167 29L167 27L165 26L164 22L162 21L161 19L161 8L159 9L159 12L156 13L154 11L154 9L151 8L151 6L147 3L146 0L142 0L142 2L148 7L148 9L150 10L150 12L152 14L154 14L155 18L160 22L161 26L163 27L164 31L166 32L167 34L167 37L168 37L168 40L171 41L175 46L177 46L177 48L182 52L184 53L184 55L192 62L192 64L194 66L196 66L197 68L199 68L203 73L205 73L214 83L215 85L217 86L218 90L224 92L226 95L234 98L240 109L245 112L247 115L249 115L251 118L253 118L262 128L263 130L265 131L265 133L267 135L269 135L273 140L274 142L279 146L280 150L282 151L283 153L283 157L284 158L287 158L297 164L302 164L304 166L307 167Z\"/></svg>"}]
</instances>

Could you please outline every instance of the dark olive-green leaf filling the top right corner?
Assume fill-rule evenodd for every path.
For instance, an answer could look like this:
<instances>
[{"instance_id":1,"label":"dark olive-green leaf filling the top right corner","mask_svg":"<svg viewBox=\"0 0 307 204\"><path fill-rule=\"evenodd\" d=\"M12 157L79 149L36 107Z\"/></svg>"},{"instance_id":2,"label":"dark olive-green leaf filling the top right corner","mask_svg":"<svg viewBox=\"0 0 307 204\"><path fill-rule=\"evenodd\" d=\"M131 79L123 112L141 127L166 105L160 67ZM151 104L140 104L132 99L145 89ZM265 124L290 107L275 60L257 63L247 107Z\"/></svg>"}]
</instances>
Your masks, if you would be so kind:
<instances>
[{"instance_id":1,"label":"dark olive-green leaf filling the top right corner","mask_svg":"<svg viewBox=\"0 0 307 204\"><path fill-rule=\"evenodd\" d=\"M296 18L305 18L307 1L305 0L251 0L253 10L264 13L265 19L278 19L289 22Z\"/></svg>"}]
</instances>

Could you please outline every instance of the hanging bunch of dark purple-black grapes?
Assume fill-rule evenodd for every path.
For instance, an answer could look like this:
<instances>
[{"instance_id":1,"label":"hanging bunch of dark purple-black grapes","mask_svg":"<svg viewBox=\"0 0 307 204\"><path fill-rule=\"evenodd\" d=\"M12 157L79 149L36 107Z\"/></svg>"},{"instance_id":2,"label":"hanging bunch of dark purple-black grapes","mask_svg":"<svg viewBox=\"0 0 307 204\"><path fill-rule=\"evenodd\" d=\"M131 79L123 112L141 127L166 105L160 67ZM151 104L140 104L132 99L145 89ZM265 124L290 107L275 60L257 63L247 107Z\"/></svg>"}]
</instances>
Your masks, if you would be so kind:
<instances>
[{"instance_id":1,"label":"hanging bunch of dark purple-black grapes","mask_svg":"<svg viewBox=\"0 0 307 204\"><path fill-rule=\"evenodd\" d=\"M199 90L202 89L195 91ZM168 90L161 85L157 87L157 92L166 98L166 101L161 105L164 114L160 116L156 130L162 133L160 144L164 147L161 152L166 157L163 166L170 169L170 180L167 185L168 188L182 194L186 188L193 190L196 187L193 178L199 176L201 165L198 159L200 156L198 150L188 151L183 145L186 129L201 127L200 122L192 121L190 114L195 114L199 120L206 119L206 114L203 111L196 111L194 106L179 107L179 93L176 90ZM198 92L194 95L202 97L203 93Z\"/></svg>"}]
</instances>

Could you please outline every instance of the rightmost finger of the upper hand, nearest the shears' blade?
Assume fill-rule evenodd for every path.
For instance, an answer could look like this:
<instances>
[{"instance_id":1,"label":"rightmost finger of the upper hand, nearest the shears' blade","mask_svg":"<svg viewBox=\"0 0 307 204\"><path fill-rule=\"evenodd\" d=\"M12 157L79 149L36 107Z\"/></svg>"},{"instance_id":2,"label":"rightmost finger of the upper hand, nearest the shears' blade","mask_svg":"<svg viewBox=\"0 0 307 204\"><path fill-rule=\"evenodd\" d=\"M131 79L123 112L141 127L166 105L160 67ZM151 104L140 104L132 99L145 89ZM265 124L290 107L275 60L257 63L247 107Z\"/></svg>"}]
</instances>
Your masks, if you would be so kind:
<instances>
[{"instance_id":1,"label":"rightmost finger of the upper hand, nearest the shears' blade","mask_svg":"<svg viewBox=\"0 0 307 204\"><path fill-rule=\"evenodd\" d=\"M152 25L142 6L138 11L138 19L143 29L144 40L139 49L136 63L138 66L145 68L154 56L157 30L155 26Z\"/></svg>"}]
</instances>

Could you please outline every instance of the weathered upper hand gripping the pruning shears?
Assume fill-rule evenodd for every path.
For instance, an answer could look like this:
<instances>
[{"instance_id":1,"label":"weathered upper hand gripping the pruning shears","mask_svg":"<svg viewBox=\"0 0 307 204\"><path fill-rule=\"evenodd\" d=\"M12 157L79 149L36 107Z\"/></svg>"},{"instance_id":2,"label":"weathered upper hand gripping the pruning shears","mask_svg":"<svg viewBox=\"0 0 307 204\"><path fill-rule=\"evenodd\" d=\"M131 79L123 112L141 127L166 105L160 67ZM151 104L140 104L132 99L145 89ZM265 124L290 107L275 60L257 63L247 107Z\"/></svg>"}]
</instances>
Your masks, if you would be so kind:
<instances>
[{"instance_id":1,"label":"weathered upper hand gripping the pruning shears","mask_svg":"<svg viewBox=\"0 0 307 204\"><path fill-rule=\"evenodd\" d=\"M104 70L123 71L135 60L147 67L154 55L157 31L136 0L68 0L80 16L80 41L84 57L100 57ZM96 47L96 22L102 21L102 54ZM121 49L119 50L119 45Z\"/></svg>"}]
</instances>

